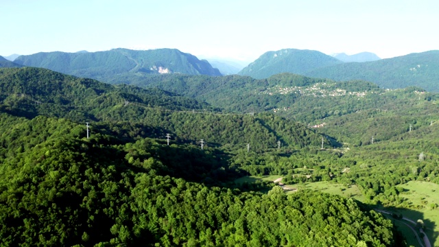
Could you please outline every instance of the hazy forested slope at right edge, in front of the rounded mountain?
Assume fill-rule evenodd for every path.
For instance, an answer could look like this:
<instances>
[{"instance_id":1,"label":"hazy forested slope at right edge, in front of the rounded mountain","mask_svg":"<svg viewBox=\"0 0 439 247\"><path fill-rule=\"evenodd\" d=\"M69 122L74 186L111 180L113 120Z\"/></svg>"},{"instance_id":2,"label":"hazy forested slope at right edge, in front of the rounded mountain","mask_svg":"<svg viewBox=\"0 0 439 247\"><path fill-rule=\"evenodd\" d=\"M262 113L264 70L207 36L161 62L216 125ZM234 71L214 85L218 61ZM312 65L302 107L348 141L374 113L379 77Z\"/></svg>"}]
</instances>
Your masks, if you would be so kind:
<instances>
[{"instance_id":1,"label":"hazy forested slope at right edge, in front of the rounded mountain","mask_svg":"<svg viewBox=\"0 0 439 247\"><path fill-rule=\"evenodd\" d=\"M426 51L373 62L349 62L316 68L304 75L333 80L366 80L385 89L418 86L439 91L439 51Z\"/></svg>"}]
</instances>

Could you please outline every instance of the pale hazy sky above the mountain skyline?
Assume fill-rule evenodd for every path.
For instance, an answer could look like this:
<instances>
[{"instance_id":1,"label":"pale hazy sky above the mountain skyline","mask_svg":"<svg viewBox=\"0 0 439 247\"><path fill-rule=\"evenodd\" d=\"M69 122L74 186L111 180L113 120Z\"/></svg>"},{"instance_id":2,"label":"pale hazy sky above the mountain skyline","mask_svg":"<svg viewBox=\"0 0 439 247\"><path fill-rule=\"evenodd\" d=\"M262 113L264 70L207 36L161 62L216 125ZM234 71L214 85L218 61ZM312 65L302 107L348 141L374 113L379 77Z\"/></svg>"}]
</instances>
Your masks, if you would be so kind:
<instances>
[{"instance_id":1,"label":"pale hazy sky above the mountain skyline","mask_svg":"<svg viewBox=\"0 0 439 247\"><path fill-rule=\"evenodd\" d=\"M176 48L252 61L265 51L439 49L439 1L0 0L0 55Z\"/></svg>"}]
</instances>

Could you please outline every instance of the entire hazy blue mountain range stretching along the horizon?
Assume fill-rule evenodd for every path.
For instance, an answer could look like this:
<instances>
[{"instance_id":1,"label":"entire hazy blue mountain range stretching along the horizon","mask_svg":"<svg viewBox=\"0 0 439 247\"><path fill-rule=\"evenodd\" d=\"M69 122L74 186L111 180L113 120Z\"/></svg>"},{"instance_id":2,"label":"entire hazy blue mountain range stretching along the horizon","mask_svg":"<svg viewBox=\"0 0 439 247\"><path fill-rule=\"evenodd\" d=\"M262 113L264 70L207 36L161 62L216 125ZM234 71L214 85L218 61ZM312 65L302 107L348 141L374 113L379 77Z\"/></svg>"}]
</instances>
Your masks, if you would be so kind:
<instances>
[{"instance_id":1,"label":"entire hazy blue mountain range stretching along the horizon","mask_svg":"<svg viewBox=\"0 0 439 247\"><path fill-rule=\"evenodd\" d=\"M281 49L266 52L244 69L230 61L209 60L211 63L178 49L112 49L41 52L19 56L14 63L3 58L0 67L41 67L110 84L143 84L151 75L165 74L219 76L237 73L264 79L279 73L295 73L337 81L365 80L388 89L418 86L427 91L439 91L439 51L380 59L369 52L329 56L320 51Z\"/></svg>"}]
</instances>

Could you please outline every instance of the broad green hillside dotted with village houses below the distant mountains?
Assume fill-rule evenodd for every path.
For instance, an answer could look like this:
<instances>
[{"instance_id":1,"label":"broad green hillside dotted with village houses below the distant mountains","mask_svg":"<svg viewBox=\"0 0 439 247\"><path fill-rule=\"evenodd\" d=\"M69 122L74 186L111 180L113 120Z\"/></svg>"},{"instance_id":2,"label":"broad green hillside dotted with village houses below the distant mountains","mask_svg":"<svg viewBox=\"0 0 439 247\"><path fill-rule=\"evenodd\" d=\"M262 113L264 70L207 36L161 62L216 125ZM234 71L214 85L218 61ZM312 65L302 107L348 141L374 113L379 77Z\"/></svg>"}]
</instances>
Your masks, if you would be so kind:
<instances>
[{"instance_id":1,"label":"broad green hillside dotted with village houses below the distant mountains","mask_svg":"<svg viewBox=\"0 0 439 247\"><path fill-rule=\"evenodd\" d=\"M138 85L158 86L232 112L274 113L353 145L367 145L372 136L376 141L388 140L407 131L410 124L430 124L439 112L438 95L423 89L388 90L371 82L335 82L288 73L263 80L167 75Z\"/></svg>"}]
</instances>

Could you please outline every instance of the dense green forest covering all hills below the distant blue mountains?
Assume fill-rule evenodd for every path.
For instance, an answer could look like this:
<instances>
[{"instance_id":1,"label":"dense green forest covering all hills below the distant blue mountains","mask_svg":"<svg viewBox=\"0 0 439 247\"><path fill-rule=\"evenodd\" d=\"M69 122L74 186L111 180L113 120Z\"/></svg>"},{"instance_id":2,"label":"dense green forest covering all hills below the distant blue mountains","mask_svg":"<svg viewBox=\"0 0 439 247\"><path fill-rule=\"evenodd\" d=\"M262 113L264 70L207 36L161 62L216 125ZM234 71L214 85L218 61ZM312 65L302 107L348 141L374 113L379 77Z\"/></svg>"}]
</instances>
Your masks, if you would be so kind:
<instances>
[{"instance_id":1,"label":"dense green forest covering all hills below the distant blue mountains","mask_svg":"<svg viewBox=\"0 0 439 247\"><path fill-rule=\"evenodd\" d=\"M179 94L165 87L175 80ZM252 82L276 108L202 98L224 86L232 99ZM439 184L434 93L292 74L167 75L149 86L0 69L1 245L405 246L372 209L427 207L400 186ZM366 204L235 183L250 175L355 185Z\"/></svg>"}]
</instances>

